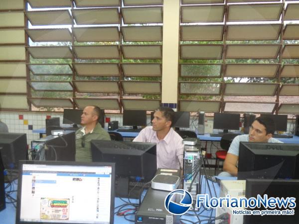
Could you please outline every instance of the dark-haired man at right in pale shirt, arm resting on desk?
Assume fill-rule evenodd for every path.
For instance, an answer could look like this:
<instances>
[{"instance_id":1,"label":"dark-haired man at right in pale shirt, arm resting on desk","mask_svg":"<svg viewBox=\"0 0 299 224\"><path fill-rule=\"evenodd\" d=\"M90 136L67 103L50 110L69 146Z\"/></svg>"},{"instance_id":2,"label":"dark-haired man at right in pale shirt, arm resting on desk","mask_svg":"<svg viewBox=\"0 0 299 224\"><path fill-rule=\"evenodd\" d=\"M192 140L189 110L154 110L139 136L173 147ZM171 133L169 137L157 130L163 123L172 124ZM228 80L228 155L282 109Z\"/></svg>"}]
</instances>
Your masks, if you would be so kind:
<instances>
[{"instance_id":1,"label":"dark-haired man at right in pale shirt, arm resting on desk","mask_svg":"<svg viewBox=\"0 0 299 224\"><path fill-rule=\"evenodd\" d=\"M275 123L269 117L258 117L251 124L249 134L238 135L232 141L223 164L223 170L219 176L237 176L240 141L245 142L269 142L283 143L272 137L275 131Z\"/></svg>"}]
</instances>

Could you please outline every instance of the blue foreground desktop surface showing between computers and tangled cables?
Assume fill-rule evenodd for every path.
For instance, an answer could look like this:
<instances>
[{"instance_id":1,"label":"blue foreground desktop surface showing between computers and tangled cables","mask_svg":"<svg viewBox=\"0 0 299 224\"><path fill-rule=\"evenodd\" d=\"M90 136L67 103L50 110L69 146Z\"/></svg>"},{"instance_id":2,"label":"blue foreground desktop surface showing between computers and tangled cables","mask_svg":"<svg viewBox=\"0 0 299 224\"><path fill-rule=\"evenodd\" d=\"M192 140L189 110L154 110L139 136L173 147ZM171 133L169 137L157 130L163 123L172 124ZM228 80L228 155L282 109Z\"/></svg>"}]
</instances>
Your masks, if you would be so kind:
<instances>
[{"instance_id":1,"label":"blue foreground desktop surface showing between computers and tangled cables","mask_svg":"<svg viewBox=\"0 0 299 224\"><path fill-rule=\"evenodd\" d=\"M202 187L202 194L209 194L209 189L207 187L207 180L202 176L202 183L203 183L203 187ZM220 187L218 184L215 184L215 183L212 183L210 181L208 181L209 184L210 184L210 188L211 188L211 194L210 197L217 197L219 195L219 191L220 191ZM16 184L13 184L14 188L16 189L17 185ZM215 191L214 191L214 188L215 188ZM215 195L215 192L216 192L216 195ZM144 194L146 193L146 191L144 192ZM13 194L13 197L16 196L16 193ZM128 199L124 199L125 201L128 201ZM138 200L135 200L135 199L131 199L130 200L132 203L138 203ZM115 208L120 206L120 205L123 205L125 204L120 198L115 198ZM28 205L29 206L29 205ZM164 205L162 205L164 206ZM130 209L130 207L126 207L128 209ZM133 207L131 207L133 208ZM115 212L117 212L118 209L115 210ZM13 207L12 204L7 204L6 203L6 209L4 209L3 211L0 212L0 223L1 224L14 224L15 223L15 213L16 213L16 210L15 208ZM209 220L209 217L215 217L215 211L214 210L210 210L210 211L203 211L203 210L199 210L197 213L200 213L200 219L201 220ZM208 217L208 218L207 218ZM131 216L128 216L127 217L128 219L130 220L134 220L135 219L135 215L131 215ZM194 215L193 211L188 211L187 215L183 215L181 216L181 219L184 219L184 220L189 220L191 222L198 222L198 219L196 218L196 216ZM132 222L129 222L127 220L124 219L124 217L122 216L117 216L115 215L114 216L114 223L115 224L130 224ZM184 222L185 223L185 222ZM208 221L204 221L204 222L201 222L201 224L207 224Z\"/></svg>"}]
</instances>

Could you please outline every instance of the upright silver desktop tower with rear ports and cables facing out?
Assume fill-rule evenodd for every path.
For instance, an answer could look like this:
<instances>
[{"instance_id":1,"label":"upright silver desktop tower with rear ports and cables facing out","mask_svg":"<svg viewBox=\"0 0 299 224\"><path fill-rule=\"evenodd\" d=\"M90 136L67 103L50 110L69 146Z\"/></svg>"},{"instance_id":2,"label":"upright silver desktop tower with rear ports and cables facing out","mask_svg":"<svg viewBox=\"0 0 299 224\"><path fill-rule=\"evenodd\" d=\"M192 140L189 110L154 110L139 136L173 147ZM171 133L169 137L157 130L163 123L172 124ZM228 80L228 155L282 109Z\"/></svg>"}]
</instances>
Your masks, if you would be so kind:
<instances>
[{"instance_id":1,"label":"upright silver desktop tower with rear ports and cables facing out","mask_svg":"<svg viewBox=\"0 0 299 224\"><path fill-rule=\"evenodd\" d=\"M193 175L195 175L197 169L200 169L200 167L198 167L199 159L200 159L200 145L199 147L185 145L184 159L183 159L183 164L184 164L183 188L184 190L188 191L192 180L195 178L190 190L190 194L194 202L196 201L196 194L199 193L198 192L199 176L197 175L196 177L194 177Z\"/></svg>"}]
</instances>

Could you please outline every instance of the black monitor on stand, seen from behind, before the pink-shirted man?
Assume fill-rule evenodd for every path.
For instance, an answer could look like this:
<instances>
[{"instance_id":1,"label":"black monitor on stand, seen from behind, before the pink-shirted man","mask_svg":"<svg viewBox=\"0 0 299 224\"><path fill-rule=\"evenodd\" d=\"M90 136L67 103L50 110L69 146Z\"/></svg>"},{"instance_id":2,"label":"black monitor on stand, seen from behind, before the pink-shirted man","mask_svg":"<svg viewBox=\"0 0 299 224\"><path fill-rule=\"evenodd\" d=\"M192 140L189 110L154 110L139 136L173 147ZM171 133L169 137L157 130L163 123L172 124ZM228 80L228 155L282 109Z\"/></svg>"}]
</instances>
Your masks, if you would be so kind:
<instances>
[{"instance_id":1,"label":"black monitor on stand, seen from behind, before the pink-shirted man","mask_svg":"<svg viewBox=\"0 0 299 224\"><path fill-rule=\"evenodd\" d=\"M129 196L129 181L149 182L156 172L155 143L91 140L91 153L93 162L116 163L118 196Z\"/></svg>"}]
</instances>

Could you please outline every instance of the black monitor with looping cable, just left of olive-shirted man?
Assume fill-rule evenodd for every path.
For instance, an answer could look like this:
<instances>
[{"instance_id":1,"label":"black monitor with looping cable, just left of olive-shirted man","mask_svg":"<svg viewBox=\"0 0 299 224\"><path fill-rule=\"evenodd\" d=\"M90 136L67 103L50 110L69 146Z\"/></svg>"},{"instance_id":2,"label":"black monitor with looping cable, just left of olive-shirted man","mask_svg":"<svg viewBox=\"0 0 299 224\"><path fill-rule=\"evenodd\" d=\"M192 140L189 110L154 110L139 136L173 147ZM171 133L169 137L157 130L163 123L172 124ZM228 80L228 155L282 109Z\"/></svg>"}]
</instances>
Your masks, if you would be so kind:
<instances>
[{"instance_id":1,"label":"black monitor with looping cable, just left of olive-shirted man","mask_svg":"<svg viewBox=\"0 0 299 224\"><path fill-rule=\"evenodd\" d=\"M49 135L45 142L46 160L75 161L76 143L75 131L66 130L64 135Z\"/></svg>"}]
</instances>

